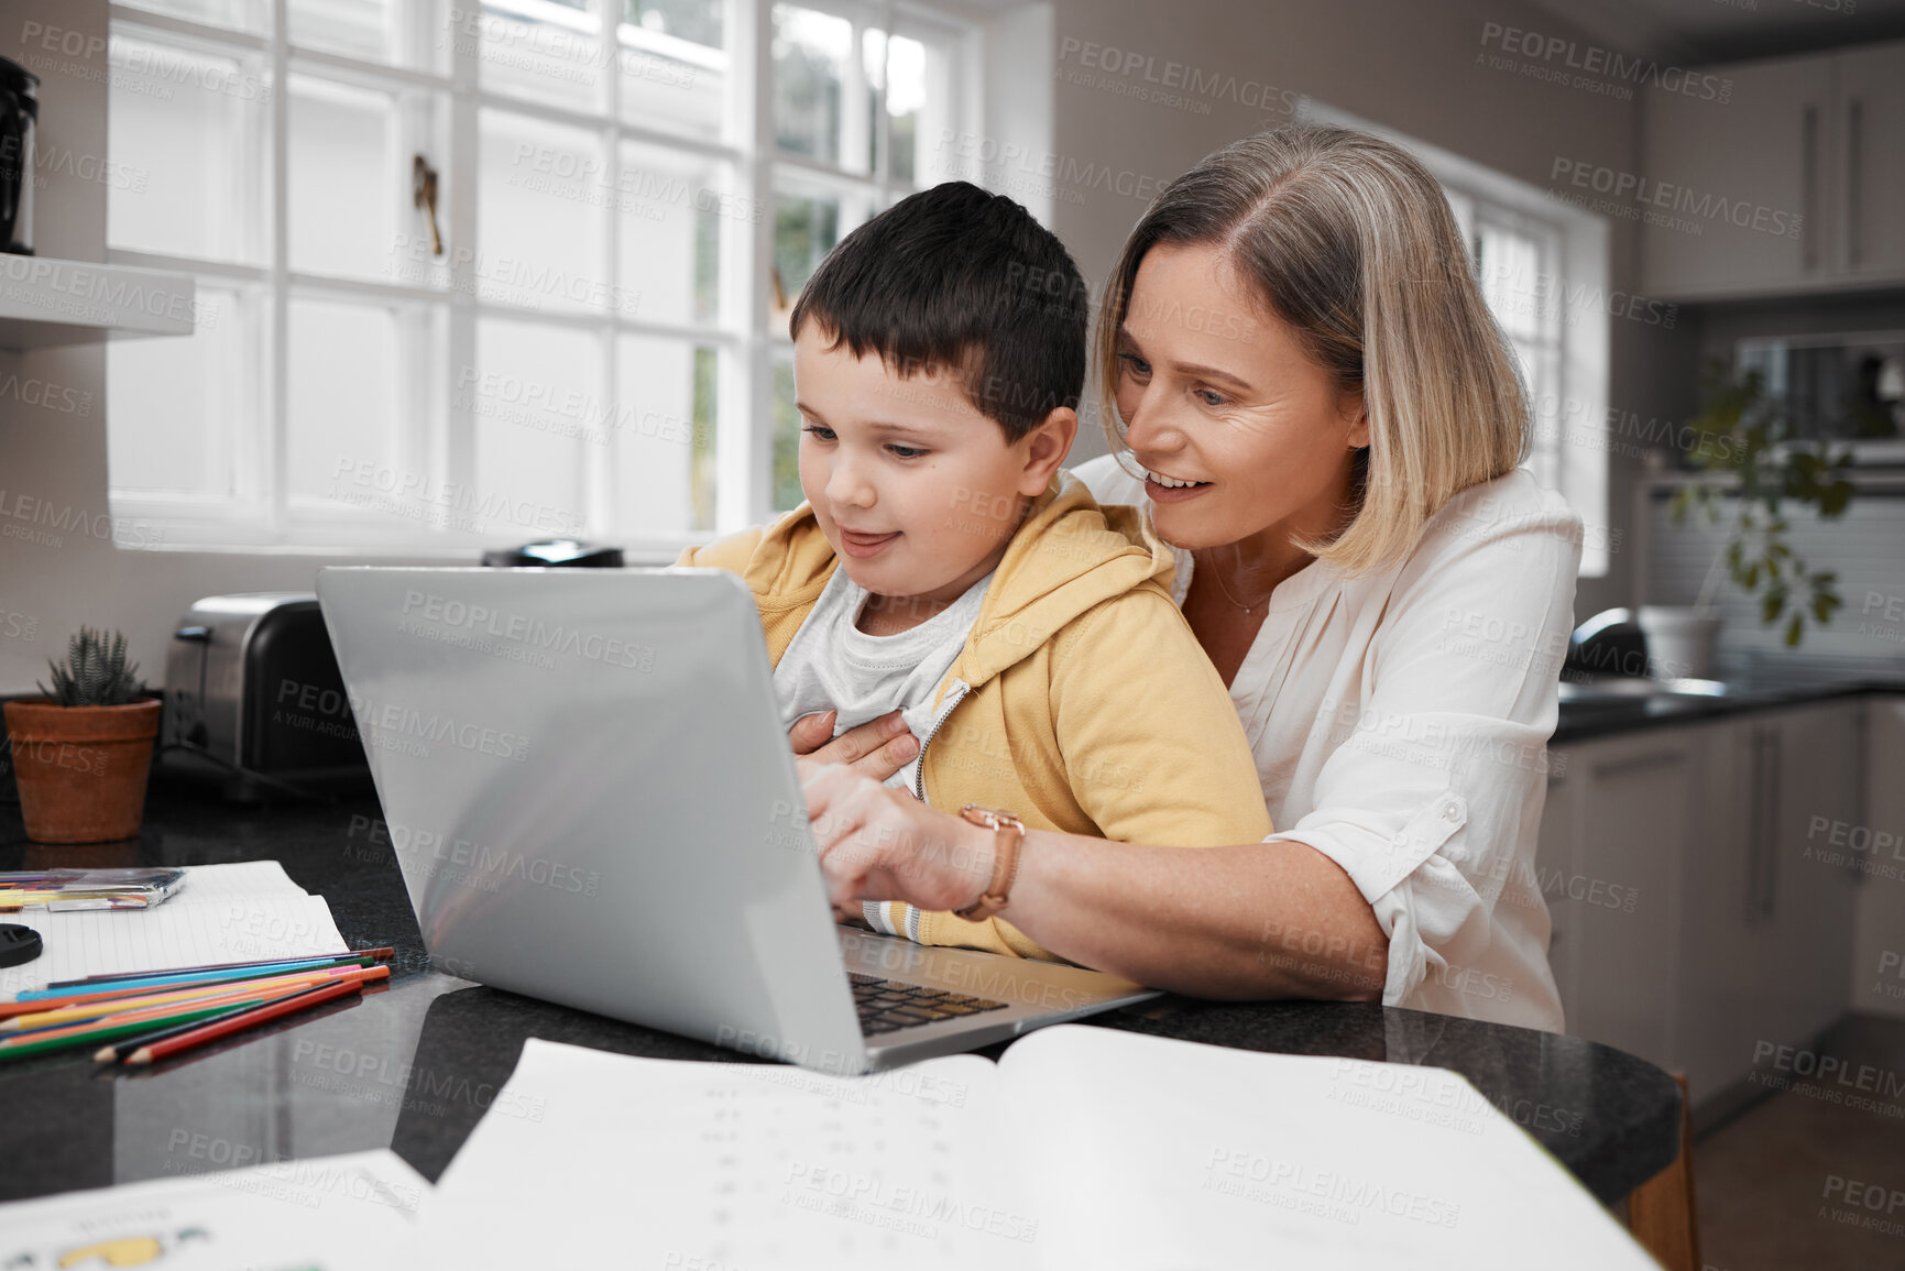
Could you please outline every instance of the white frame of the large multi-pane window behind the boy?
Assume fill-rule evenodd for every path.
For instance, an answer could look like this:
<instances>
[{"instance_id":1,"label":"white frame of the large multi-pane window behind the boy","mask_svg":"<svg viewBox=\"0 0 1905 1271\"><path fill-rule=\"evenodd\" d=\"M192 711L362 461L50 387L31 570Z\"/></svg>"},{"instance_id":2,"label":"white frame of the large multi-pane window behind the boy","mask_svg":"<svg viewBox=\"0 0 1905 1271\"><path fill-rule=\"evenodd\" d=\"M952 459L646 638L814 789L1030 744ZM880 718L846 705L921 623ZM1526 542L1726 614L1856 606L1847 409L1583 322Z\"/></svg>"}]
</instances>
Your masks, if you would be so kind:
<instances>
[{"instance_id":1,"label":"white frame of the large multi-pane window behind the boy","mask_svg":"<svg viewBox=\"0 0 1905 1271\"><path fill-rule=\"evenodd\" d=\"M471 0L478 4L480 0ZM505 8L535 10L537 0L493 0ZM451 0L423 0L404 10L408 29L402 32L411 42L434 40L448 30L448 8ZM956 40L958 74L952 82L951 112L964 128L977 128L981 93L975 91L983 72L983 40L973 21L952 10L930 4L909 4L901 0L798 0L800 8L838 13L853 21L853 55L848 59L850 82L842 90L844 128L865 128L865 67L859 55L861 30L869 25L888 32L907 34L909 27L928 27L933 34ZM545 105L511 93L488 91L478 86L480 53L463 40L450 40L448 71L431 72L400 65L387 65L370 59L331 53L326 50L303 48L290 38L288 0L272 0L271 34L244 32L229 27L215 27L189 19L152 13L122 4L109 6L109 21L114 32L147 30L158 36L183 36L221 50L231 50L263 61L269 71L272 93L267 107L269 141L263 149L269 156L272 223L271 252L263 265L234 265L198 257L166 255L154 252L135 252L124 248L107 250L110 263L143 265L189 272L208 284L240 284L263 295L265 322L263 335L263 373L271 393L263 400L263 419L238 421L236 495L213 499L202 494L166 492L114 492L112 509L116 524L147 524L162 528L162 543L171 551L234 551L234 553L290 553L290 555L352 555L352 556L406 556L406 558L459 558L467 560L474 547L493 547L507 541L526 541L547 537L533 526L495 526L480 532L455 530L448 526L415 526L370 509L339 505L335 501L295 501L288 497L288 309L291 293L314 299L341 297L352 301L383 301L398 314L413 314L421 324L413 332L417 349L429 349L429 324L440 320L448 347L432 351L427 375L408 373L400 385L398 436L392 440L398 467L406 473L423 473L427 480L453 482L467 486L476 469L474 455L474 410L465 398L457 404L457 368L476 364L476 324L480 318L511 318L547 326L566 326L587 330L596 339L596 383L592 391L602 402L617 402L617 339L625 335L650 335L674 341L690 341L693 347L712 347L718 358L716 375L716 436L714 436L714 526L712 532L684 532L665 535L629 535L615 526L613 509L613 431L608 448L600 455L587 454L583 474L583 520L585 534L623 547L631 562L659 562L672 556L688 543L707 541L711 534L728 534L749 524L768 520L772 511L772 455L773 455L773 366L777 358L791 353L785 330L772 330L770 314L770 269L773 265L775 232L775 179L781 173L798 173L804 183L821 185L840 192L844 198L859 198L876 212L895 198L905 196L914 183L895 181L890 168L890 116L882 111L876 131L876 154L871 168L853 170L850 164L815 162L808 156L779 152L773 145L772 118L772 40L773 40L773 0L726 0L724 42L726 53L701 50L682 40L657 36L640 27L619 21L621 0L589 0L589 11L600 23L596 30L617 30L625 46L642 48L646 44L665 44L667 53L680 57L701 55L726 59L728 101L724 107L724 135L718 141L695 139L672 131L661 131L627 124L621 120L621 82L619 74L604 76L606 95L591 111L573 111ZM551 6L554 8L554 6ZM427 48L427 44L419 44ZM663 51L663 50L655 50ZM718 63L711 63L718 65ZM581 128L600 139L602 156L619 170L621 145L640 143L644 147L669 149L678 152L703 154L726 162L733 171L733 194L743 208L762 208L758 223L745 217L724 217L720 221L720 293L718 318L705 322L653 322L615 313L549 313L524 311L476 293L474 269L469 263L453 265L451 288L448 292L429 286L410 286L402 280L352 280L320 274L305 274L290 269L288 261L288 118L290 91L288 74L316 74L381 90L425 90L440 93L448 101L448 156L440 164L446 171L448 189L440 200L446 206L442 223L446 244L482 244L476 225L478 162L480 137L478 118L484 111L501 111L524 118L539 118L551 124ZM855 120L855 111L857 122ZM440 122L442 128L442 122ZM400 135L398 151L408 164L410 152L432 152L429 139ZM415 145L413 145L415 143ZM928 171L914 173L926 179ZM408 179L408 166L406 166ZM400 187L402 189L402 187ZM615 210L602 210L604 276L617 278L619 240L615 234ZM842 232L852 225L842 219ZM453 259L453 257L451 257ZM415 358L400 358L398 366L410 368Z\"/></svg>"}]
</instances>

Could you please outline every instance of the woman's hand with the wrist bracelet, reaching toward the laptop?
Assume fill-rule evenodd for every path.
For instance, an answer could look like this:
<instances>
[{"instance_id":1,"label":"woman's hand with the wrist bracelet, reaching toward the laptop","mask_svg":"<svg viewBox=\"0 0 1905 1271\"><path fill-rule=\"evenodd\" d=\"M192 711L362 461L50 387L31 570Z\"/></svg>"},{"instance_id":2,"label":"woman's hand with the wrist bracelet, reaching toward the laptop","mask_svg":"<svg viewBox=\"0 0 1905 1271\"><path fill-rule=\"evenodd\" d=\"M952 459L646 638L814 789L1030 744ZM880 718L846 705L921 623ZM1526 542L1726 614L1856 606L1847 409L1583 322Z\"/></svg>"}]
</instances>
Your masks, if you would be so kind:
<instances>
[{"instance_id":1,"label":"woman's hand with the wrist bracelet, reaching toward the laptop","mask_svg":"<svg viewBox=\"0 0 1905 1271\"><path fill-rule=\"evenodd\" d=\"M836 907L903 899L964 909L993 880L993 831L838 764L800 760L800 783Z\"/></svg>"}]
</instances>

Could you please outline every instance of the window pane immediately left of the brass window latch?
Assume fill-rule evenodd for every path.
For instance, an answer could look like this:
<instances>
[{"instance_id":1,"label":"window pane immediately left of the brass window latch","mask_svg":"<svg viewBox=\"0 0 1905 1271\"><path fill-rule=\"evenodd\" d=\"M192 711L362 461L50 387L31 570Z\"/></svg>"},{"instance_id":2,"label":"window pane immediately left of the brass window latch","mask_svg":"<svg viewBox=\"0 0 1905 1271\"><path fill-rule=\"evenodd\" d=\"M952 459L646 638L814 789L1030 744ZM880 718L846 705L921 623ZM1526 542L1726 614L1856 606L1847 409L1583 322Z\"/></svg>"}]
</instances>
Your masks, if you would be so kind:
<instances>
[{"instance_id":1,"label":"window pane immediately left of the brass window latch","mask_svg":"<svg viewBox=\"0 0 1905 1271\"><path fill-rule=\"evenodd\" d=\"M396 232L396 103L301 74L290 82L291 269L379 276Z\"/></svg>"}]
</instances>

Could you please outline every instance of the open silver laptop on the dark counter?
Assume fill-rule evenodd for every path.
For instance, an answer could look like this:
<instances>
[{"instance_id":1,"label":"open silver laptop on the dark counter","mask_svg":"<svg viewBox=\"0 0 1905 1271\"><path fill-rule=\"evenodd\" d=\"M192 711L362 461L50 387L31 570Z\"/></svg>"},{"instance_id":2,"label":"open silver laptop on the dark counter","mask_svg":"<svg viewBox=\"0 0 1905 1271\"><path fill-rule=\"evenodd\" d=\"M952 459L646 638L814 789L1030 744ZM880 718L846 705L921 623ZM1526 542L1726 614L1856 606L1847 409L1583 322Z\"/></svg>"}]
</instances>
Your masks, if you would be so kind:
<instances>
[{"instance_id":1,"label":"open silver laptop on the dark counter","mask_svg":"<svg viewBox=\"0 0 1905 1271\"><path fill-rule=\"evenodd\" d=\"M432 960L827 1073L1154 997L834 926L754 600L718 570L318 574Z\"/></svg>"}]
</instances>

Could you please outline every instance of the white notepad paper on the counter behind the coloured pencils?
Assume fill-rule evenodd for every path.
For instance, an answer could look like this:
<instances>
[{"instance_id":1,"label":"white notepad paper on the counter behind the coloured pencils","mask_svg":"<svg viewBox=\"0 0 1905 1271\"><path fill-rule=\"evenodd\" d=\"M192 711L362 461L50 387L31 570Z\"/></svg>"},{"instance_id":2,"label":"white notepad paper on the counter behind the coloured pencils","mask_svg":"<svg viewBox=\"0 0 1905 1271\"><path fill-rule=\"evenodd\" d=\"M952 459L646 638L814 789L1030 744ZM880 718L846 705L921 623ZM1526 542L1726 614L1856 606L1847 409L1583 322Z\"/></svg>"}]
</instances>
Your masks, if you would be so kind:
<instances>
[{"instance_id":1,"label":"white notepad paper on the counter behind the coloured pencils","mask_svg":"<svg viewBox=\"0 0 1905 1271\"><path fill-rule=\"evenodd\" d=\"M6 999L53 979L347 949L324 898L291 882L278 861L192 865L185 886L152 909L29 909L8 922L40 932L44 951L0 968Z\"/></svg>"}]
</instances>

